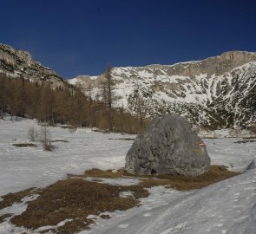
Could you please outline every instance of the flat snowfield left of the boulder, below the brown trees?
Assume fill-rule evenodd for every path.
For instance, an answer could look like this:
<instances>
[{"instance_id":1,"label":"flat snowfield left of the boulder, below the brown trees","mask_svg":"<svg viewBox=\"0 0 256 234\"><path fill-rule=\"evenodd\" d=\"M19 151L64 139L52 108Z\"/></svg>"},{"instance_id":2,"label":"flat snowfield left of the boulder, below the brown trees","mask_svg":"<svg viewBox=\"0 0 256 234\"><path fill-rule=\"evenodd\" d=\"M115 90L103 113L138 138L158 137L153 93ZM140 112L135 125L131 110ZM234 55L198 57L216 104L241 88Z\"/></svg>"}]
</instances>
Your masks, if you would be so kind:
<instances>
[{"instance_id":1,"label":"flat snowfield left of the boulder, below the brown trees","mask_svg":"<svg viewBox=\"0 0 256 234\"><path fill-rule=\"evenodd\" d=\"M30 142L28 131L41 127L36 120L21 119L11 122L0 120L0 196L17 192L31 186L45 186L67 173L82 173L90 168L111 169L124 166L124 157L131 140L108 140L135 138L115 133L103 134L81 128L75 133L61 127L48 127L51 140L67 140L52 143L54 152L38 147L16 147L17 143Z\"/></svg>"}]
</instances>

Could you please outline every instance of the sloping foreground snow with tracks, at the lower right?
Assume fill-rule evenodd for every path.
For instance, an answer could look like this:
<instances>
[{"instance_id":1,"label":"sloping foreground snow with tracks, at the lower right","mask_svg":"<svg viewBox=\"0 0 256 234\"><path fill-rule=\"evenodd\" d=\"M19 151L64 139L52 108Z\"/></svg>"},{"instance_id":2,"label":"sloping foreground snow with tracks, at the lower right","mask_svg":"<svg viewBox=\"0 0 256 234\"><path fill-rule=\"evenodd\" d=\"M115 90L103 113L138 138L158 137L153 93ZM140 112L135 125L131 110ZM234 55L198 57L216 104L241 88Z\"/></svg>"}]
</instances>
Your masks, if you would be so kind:
<instances>
[{"instance_id":1,"label":"sloping foreground snow with tracks, at the lower right","mask_svg":"<svg viewBox=\"0 0 256 234\"><path fill-rule=\"evenodd\" d=\"M194 192L151 189L142 205L116 211L80 234L255 234L256 171Z\"/></svg>"}]
</instances>

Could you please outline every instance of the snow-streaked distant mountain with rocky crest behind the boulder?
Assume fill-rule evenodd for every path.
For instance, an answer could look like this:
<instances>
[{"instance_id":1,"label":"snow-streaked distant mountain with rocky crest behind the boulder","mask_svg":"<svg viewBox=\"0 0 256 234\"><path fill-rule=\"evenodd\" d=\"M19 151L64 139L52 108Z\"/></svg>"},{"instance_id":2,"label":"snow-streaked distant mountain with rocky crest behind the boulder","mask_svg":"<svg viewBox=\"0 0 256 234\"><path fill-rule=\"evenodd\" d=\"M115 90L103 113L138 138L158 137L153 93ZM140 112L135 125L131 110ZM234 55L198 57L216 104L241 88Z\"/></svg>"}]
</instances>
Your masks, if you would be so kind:
<instances>
[{"instance_id":1,"label":"snow-streaked distant mountain with rocky crest behind the boulder","mask_svg":"<svg viewBox=\"0 0 256 234\"><path fill-rule=\"evenodd\" d=\"M255 121L256 53L226 52L198 62L113 68L115 106L145 116L177 113L194 126L247 127ZM102 75L69 80L94 98Z\"/></svg>"}]
</instances>

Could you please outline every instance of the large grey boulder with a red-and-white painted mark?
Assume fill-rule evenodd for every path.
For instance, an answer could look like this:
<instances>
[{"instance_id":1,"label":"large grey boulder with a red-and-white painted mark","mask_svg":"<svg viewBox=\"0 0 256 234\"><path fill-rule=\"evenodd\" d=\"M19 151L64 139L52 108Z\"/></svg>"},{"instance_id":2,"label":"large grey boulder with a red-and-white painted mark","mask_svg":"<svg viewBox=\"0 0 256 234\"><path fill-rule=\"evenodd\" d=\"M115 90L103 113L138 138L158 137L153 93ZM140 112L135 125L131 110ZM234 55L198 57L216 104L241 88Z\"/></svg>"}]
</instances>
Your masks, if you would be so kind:
<instances>
[{"instance_id":1,"label":"large grey boulder with a red-and-white painted mark","mask_svg":"<svg viewBox=\"0 0 256 234\"><path fill-rule=\"evenodd\" d=\"M207 172L211 159L190 123L177 114L154 120L137 136L126 156L126 172L136 175L197 176Z\"/></svg>"}]
</instances>

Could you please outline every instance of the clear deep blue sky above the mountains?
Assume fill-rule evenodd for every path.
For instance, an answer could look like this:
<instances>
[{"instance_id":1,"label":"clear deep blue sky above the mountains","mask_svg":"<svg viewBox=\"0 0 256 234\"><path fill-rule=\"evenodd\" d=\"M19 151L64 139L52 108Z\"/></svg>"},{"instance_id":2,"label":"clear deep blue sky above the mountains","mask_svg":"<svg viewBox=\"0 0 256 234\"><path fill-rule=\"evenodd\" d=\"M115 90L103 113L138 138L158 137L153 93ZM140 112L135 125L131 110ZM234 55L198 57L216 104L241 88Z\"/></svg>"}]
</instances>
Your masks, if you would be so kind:
<instances>
[{"instance_id":1,"label":"clear deep blue sky above the mountains","mask_svg":"<svg viewBox=\"0 0 256 234\"><path fill-rule=\"evenodd\" d=\"M0 0L0 42L62 77L256 51L255 0Z\"/></svg>"}]
</instances>

